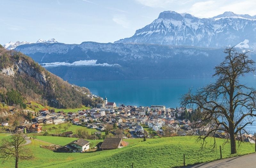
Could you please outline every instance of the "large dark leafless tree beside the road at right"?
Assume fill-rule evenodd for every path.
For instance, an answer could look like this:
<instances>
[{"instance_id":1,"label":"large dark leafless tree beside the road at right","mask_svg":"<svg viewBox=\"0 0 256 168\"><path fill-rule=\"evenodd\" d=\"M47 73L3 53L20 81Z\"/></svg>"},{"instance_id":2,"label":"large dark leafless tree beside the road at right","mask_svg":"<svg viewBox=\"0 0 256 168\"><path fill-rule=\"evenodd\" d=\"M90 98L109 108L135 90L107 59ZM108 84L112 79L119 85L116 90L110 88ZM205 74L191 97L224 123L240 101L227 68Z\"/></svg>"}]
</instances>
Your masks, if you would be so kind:
<instances>
[{"instance_id":1,"label":"large dark leafless tree beside the road at right","mask_svg":"<svg viewBox=\"0 0 256 168\"><path fill-rule=\"evenodd\" d=\"M189 91L181 100L181 105L201 108L202 122L211 123L209 132L199 138L205 139L217 131L228 132L230 138L231 154L236 153L236 137L248 133L246 125L253 123L255 112L256 91L241 84L239 79L255 71L254 61L250 60L247 52L237 52L233 47L225 49L227 54L224 61L215 67L218 77L215 83L200 88L196 93ZM242 140L242 138L241 138ZM214 138L214 147L216 142Z\"/></svg>"}]
</instances>

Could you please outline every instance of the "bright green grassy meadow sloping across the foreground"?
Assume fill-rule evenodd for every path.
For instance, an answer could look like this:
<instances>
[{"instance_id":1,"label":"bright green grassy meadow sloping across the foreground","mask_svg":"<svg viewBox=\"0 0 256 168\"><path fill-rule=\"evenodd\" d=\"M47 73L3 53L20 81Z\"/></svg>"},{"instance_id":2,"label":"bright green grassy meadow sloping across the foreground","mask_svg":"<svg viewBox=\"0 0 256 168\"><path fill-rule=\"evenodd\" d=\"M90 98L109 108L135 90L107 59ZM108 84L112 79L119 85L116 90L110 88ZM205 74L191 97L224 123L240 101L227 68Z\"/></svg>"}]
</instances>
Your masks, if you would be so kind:
<instances>
[{"instance_id":1,"label":"bright green grassy meadow sloping across the foreground","mask_svg":"<svg viewBox=\"0 0 256 168\"><path fill-rule=\"evenodd\" d=\"M37 137L37 139L54 144L65 145L73 138L63 137ZM89 140L96 144L102 140ZM212 139L207 139L208 145L200 151L200 143L196 143L196 137L170 137L158 139L129 139L129 146L115 150L104 150L91 153L55 153L48 149L39 148L39 145L46 145L44 142L36 140L36 150L34 142L27 145L35 154L31 161L21 161L20 167L177 167L183 164L183 153L186 155L186 164L195 164L213 161L220 158L220 152L211 152L209 148ZM217 139L217 145L222 145L224 140ZM236 155L244 155L254 152L254 144L242 143ZM234 156L234 155L233 155ZM230 157L230 147L226 144L222 147L222 157ZM2 164L4 168L13 167L14 160Z\"/></svg>"}]
</instances>

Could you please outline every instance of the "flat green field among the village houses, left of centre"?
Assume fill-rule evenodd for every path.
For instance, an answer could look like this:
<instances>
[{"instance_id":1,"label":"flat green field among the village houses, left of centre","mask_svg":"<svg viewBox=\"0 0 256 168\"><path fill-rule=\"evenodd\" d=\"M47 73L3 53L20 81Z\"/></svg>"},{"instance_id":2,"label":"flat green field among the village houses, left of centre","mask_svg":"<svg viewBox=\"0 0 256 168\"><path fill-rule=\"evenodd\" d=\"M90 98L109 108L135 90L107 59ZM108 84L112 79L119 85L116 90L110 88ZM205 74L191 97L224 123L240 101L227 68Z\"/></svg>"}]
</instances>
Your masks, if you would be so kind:
<instances>
[{"instance_id":1,"label":"flat green field among the village houses, left of centre","mask_svg":"<svg viewBox=\"0 0 256 168\"><path fill-rule=\"evenodd\" d=\"M59 125L61 125L62 128L59 129ZM75 133L78 128L86 129L86 131L90 135L91 135L92 132L96 132L97 131L94 128L87 128L87 127L83 127L83 126L80 126L80 125L73 125L73 124L71 124L71 126L68 127L68 129L65 131L65 129L64 129L65 126L68 127L68 123L63 123L63 124L58 124L58 125L46 124L45 127L44 127L44 125L42 125L43 130L47 129L47 132L50 133L50 134L62 133L62 132L67 132L67 131L72 131L73 133ZM51 129L51 131L50 131L49 128L52 128L52 127L56 127L57 129L56 130ZM41 133L44 133L44 131L42 131ZM105 132L102 132L102 135L105 135Z\"/></svg>"}]
</instances>

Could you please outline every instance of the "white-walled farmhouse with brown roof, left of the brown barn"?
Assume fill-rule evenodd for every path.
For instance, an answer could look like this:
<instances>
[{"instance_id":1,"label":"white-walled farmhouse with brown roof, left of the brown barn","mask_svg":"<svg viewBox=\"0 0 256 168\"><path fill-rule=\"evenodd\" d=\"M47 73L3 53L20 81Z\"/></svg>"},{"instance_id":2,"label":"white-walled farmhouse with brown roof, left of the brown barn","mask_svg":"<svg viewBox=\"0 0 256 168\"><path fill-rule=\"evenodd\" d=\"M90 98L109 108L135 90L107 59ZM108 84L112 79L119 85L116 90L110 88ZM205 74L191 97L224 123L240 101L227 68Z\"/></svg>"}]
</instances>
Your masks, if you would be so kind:
<instances>
[{"instance_id":1,"label":"white-walled farmhouse with brown roof, left of the brown barn","mask_svg":"<svg viewBox=\"0 0 256 168\"><path fill-rule=\"evenodd\" d=\"M74 140L68 145L57 148L57 152L85 152L89 149L90 142L84 139Z\"/></svg>"}]
</instances>

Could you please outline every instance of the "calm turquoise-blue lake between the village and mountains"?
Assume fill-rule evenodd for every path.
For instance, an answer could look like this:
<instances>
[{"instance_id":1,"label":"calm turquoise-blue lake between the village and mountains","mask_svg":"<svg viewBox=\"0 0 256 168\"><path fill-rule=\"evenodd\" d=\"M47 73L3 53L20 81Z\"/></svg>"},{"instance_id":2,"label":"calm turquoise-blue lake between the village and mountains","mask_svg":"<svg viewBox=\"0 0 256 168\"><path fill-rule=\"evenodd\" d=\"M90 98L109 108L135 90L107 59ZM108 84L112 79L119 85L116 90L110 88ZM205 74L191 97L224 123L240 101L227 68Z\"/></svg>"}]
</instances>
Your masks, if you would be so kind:
<instances>
[{"instance_id":1,"label":"calm turquoise-blue lake between the village and mountains","mask_svg":"<svg viewBox=\"0 0 256 168\"><path fill-rule=\"evenodd\" d=\"M165 105L176 108L180 98L187 93L214 82L214 78L178 78L178 79L143 79L143 80L110 80L110 81L69 81L71 84L84 86L92 94L108 98L116 105ZM241 83L256 87L256 77L241 78Z\"/></svg>"}]
</instances>

